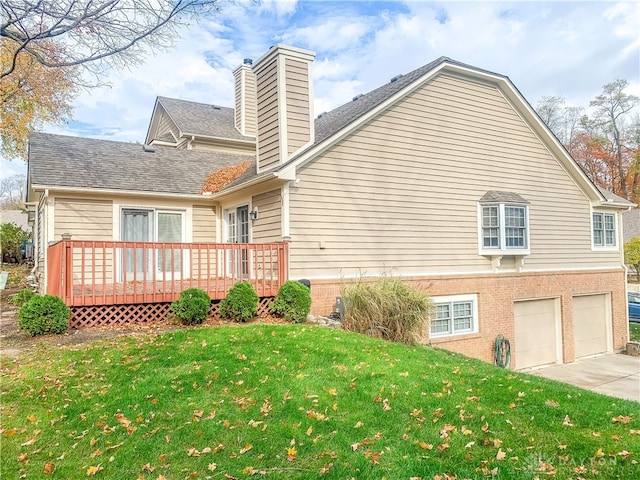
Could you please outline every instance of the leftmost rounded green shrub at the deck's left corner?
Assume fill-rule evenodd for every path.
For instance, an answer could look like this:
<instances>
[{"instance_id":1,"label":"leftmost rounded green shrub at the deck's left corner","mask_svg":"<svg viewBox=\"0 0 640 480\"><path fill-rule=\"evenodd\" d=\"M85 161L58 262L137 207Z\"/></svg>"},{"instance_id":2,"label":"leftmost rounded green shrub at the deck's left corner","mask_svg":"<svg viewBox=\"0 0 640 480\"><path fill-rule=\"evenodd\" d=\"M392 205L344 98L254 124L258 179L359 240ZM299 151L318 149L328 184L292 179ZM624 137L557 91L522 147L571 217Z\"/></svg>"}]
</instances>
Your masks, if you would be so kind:
<instances>
[{"instance_id":1,"label":"leftmost rounded green shrub at the deck's left corner","mask_svg":"<svg viewBox=\"0 0 640 480\"><path fill-rule=\"evenodd\" d=\"M71 310L60 297L36 295L18 311L18 326L32 337L64 333L69 328Z\"/></svg>"}]
</instances>

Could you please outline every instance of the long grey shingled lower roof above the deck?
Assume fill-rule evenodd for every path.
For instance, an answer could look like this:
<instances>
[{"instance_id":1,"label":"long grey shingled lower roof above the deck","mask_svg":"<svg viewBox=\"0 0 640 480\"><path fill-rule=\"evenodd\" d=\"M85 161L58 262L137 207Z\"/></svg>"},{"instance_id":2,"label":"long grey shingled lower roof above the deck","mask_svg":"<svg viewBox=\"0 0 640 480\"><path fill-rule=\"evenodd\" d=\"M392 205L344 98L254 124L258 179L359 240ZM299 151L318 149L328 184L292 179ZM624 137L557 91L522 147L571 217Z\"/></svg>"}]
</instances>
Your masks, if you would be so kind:
<instances>
[{"instance_id":1,"label":"long grey shingled lower roof above the deck","mask_svg":"<svg viewBox=\"0 0 640 480\"><path fill-rule=\"evenodd\" d=\"M253 155L155 147L33 132L29 189L68 188L199 195L207 175Z\"/></svg>"}]
</instances>

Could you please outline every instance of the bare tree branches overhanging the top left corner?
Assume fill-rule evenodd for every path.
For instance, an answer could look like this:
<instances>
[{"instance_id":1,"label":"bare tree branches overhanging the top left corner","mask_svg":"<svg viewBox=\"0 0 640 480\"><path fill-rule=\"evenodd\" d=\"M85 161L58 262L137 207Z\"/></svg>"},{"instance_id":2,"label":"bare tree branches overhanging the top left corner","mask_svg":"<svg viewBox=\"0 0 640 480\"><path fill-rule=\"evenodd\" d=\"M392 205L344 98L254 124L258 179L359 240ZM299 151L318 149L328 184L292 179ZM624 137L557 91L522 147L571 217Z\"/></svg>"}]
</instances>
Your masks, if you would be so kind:
<instances>
[{"instance_id":1,"label":"bare tree branches overhanging the top left corner","mask_svg":"<svg viewBox=\"0 0 640 480\"><path fill-rule=\"evenodd\" d=\"M0 37L13 56L0 79L17 66L21 52L47 68L81 66L99 78L109 66L137 64L147 48L173 44L194 16L217 11L221 0L2 0ZM56 46L55 54L42 42Z\"/></svg>"}]
</instances>

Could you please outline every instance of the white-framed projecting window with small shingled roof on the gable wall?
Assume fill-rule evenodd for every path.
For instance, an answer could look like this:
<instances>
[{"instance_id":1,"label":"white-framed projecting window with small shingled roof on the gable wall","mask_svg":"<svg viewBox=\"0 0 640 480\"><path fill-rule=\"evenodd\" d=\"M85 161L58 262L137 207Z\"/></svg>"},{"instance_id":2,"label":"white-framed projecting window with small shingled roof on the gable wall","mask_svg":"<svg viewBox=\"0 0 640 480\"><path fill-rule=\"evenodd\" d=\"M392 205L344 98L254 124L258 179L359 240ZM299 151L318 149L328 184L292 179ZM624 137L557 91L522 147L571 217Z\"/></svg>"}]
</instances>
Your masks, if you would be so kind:
<instances>
[{"instance_id":1,"label":"white-framed projecting window with small shingled roof on the gable wall","mask_svg":"<svg viewBox=\"0 0 640 480\"><path fill-rule=\"evenodd\" d=\"M516 193L487 192L478 203L480 255L529 254L529 205Z\"/></svg>"}]
</instances>

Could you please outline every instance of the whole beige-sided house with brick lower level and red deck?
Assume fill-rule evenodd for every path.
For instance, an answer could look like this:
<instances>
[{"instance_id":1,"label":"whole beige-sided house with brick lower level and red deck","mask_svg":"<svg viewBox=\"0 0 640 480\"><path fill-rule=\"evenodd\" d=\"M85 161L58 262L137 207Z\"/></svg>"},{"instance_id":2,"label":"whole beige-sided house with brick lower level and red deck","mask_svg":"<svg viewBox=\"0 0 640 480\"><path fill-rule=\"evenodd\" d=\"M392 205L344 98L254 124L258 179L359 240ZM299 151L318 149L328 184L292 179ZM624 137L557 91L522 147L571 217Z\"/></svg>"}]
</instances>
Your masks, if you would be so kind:
<instances>
[{"instance_id":1,"label":"whole beige-sided house with brick lower level and red deck","mask_svg":"<svg viewBox=\"0 0 640 480\"><path fill-rule=\"evenodd\" d=\"M285 45L246 60L233 110L159 98L144 146L33 134L43 288L111 312L163 304L157 278L304 278L328 314L345 282L394 275L433 297L434 346L492 361L502 335L517 369L624 348L631 204L596 188L508 77L442 57L314 118L313 60ZM118 291L132 275L155 290Z\"/></svg>"}]
</instances>

